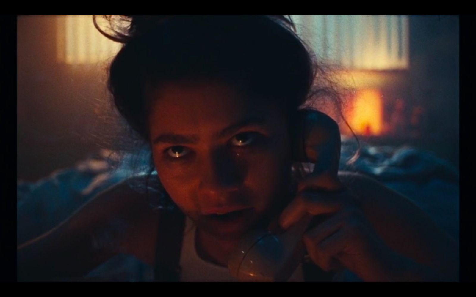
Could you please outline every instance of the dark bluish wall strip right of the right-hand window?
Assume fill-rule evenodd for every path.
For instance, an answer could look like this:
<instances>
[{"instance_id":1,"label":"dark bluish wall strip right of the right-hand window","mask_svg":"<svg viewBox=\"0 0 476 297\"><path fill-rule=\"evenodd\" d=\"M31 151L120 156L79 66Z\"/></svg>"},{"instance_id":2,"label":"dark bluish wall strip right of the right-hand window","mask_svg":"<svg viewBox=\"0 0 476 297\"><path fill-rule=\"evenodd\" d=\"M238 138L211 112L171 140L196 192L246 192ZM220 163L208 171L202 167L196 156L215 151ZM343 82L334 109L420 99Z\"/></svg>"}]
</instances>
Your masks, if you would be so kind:
<instances>
[{"instance_id":1,"label":"dark bluish wall strip right of the right-hand window","mask_svg":"<svg viewBox=\"0 0 476 297\"><path fill-rule=\"evenodd\" d=\"M459 167L458 16L410 17L409 74L409 100L426 109L423 140Z\"/></svg>"}]
</instances>

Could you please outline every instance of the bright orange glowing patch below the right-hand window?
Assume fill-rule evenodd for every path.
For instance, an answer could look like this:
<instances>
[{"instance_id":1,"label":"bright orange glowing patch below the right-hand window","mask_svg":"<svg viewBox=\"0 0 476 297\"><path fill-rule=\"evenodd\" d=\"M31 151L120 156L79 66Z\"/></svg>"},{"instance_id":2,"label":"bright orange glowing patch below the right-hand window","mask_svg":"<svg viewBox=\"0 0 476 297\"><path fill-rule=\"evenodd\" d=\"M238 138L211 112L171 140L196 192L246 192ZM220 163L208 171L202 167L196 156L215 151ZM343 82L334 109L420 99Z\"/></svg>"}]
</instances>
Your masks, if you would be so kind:
<instances>
[{"instance_id":1,"label":"bright orange glowing patch below the right-hand window","mask_svg":"<svg viewBox=\"0 0 476 297\"><path fill-rule=\"evenodd\" d=\"M362 89L357 91L347 119L356 134L380 135L384 127L382 114L381 93L375 89Z\"/></svg>"}]
</instances>

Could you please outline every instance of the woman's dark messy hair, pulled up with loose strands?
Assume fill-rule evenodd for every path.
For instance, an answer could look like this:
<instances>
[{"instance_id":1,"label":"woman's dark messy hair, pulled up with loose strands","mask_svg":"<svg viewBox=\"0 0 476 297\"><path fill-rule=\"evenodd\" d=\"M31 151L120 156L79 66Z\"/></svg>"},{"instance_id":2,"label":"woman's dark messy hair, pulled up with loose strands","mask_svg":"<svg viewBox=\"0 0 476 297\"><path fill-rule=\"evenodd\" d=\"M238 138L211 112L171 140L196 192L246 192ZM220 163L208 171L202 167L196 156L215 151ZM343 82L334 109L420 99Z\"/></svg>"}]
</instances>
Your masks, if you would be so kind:
<instances>
[{"instance_id":1,"label":"woman's dark messy hair, pulled up with loose strands","mask_svg":"<svg viewBox=\"0 0 476 297\"><path fill-rule=\"evenodd\" d=\"M109 67L109 91L146 141L147 90L168 82L216 79L272 102L289 122L309 96L332 91L312 89L315 78L324 77L322 68L288 16L102 15L94 23L123 43Z\"/></svg>"}]
</instances>

